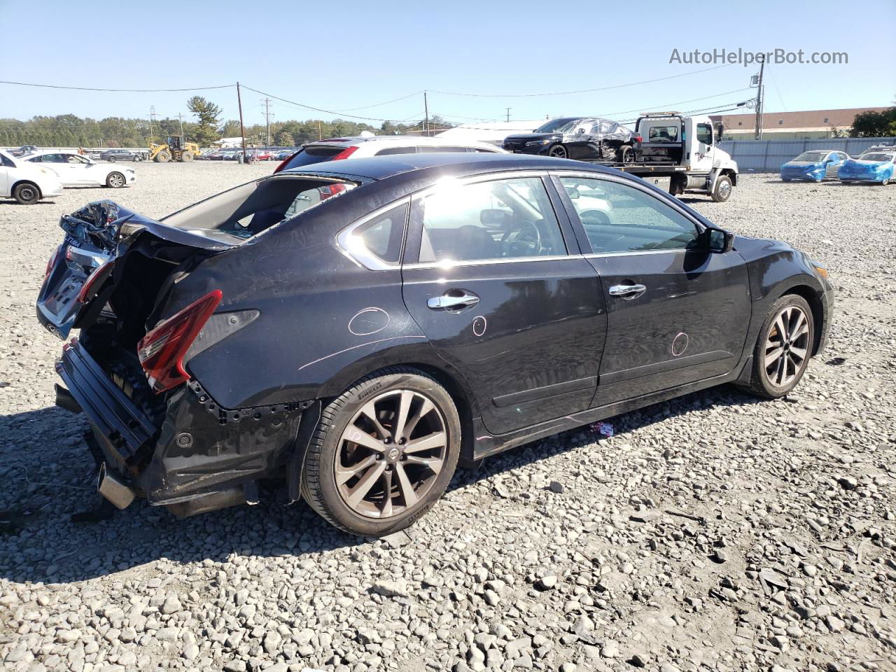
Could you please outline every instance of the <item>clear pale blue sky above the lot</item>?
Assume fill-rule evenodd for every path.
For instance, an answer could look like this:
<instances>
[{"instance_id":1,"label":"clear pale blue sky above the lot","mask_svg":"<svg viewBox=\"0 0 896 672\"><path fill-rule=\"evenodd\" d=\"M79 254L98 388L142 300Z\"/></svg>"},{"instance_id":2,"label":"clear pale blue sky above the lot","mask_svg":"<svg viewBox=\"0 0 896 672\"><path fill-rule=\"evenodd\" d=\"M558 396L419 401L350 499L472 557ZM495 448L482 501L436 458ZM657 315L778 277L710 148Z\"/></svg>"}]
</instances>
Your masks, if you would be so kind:
<instances>
[{"instance_id":1,"label":"clear pale blue sky above the lot","mask_svg":"<svg viewBox=\"0 0 896 672\"><path fill-rule=\"evenodd\" d=\"M263 123L266 96L290 101L271 99L272 122L417 120L424 90L430 116L454 123L508 114L626 121L642 111L713 112L754 98L749 83L758 65L702 60L738 48L802 49L806 59L814 52L848 55L848 63L836 65L766 65L766 112L889 106L896 100L892 50L883 46L889 39L873 35L874 25L896 25L896 2L875 4L874 12L872 24L845 12L840 0L464 0L428 8L390 0L251 6L0 0L0 80L100 89L228 85L116 93L0 84L0 117L148 117L155 108L160 117L186 119L192 118L186 99L201 95L222 108L222 118L237 118L236 87L229 85L238 81L254 89L242 90L246 124ZM30 29L8 30L22 25ZM701 52L696 63L694 49Z\"/></svg>"}]
</instances>

